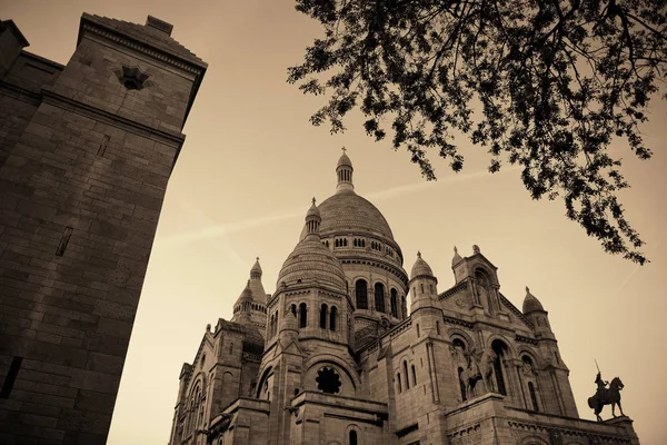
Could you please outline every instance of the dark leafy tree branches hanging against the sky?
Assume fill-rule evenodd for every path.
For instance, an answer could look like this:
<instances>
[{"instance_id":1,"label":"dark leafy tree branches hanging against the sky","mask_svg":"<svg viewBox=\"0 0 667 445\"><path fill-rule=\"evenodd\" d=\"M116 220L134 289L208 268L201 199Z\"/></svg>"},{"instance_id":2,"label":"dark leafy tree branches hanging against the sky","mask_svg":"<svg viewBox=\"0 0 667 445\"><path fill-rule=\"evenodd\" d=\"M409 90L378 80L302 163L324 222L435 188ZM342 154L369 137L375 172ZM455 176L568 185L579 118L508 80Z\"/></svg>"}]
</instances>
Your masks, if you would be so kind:
<instances>
[{"instance_id":1,"label":"dark leafy tree branches hanging against the sky","mask_svg":"<svg viewBox=\"0 0 667 445\"><path fill-rule=\"evenodd\" d=\"M638 125L667 69L667 0L297 0L326 34L288 81L328 93L312 117L345 130L359 108L369 136L390 122L427 180L427 154L461 170L454 135L488 148L489 171L522 167L534 199L561 197L604 249L638 264L644 244L617 199L628 187L608 148L650 150Z\"/></svg>"}]
</instances>

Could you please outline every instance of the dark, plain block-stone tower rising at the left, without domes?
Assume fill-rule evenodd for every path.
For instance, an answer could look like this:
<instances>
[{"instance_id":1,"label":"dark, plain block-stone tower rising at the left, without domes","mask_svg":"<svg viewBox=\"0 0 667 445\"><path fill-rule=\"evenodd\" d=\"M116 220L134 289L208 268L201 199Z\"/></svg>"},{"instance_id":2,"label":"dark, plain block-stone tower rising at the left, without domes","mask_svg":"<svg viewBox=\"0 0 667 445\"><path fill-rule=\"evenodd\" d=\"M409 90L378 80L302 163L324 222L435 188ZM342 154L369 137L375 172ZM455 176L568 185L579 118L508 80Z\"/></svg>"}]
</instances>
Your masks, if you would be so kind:
<instances>
[{"instance_id":1,"label":"dark, plain block-stone tower rising at the left, without domes","mask_svg":"<svg viewBox=\"0 0 667 445\"><path fill-rule=\"evenodd\" d=\"M107 441L207 69L171 31L83 13L61 66L0 23L0 443Z\"/></svg>"}]
</instances>

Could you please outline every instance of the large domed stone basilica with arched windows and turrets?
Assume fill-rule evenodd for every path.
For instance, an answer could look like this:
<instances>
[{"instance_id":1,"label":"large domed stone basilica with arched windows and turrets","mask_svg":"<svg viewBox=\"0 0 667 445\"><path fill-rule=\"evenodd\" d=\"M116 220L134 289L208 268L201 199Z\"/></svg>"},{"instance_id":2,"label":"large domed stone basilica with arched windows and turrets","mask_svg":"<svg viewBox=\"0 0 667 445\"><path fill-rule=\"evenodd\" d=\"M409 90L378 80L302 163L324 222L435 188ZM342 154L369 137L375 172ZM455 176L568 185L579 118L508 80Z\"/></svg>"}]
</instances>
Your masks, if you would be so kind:
<instances>
[{"instance_id":1,"label":"large domed stone basilica with arched windows and turrets","mask_svg":"<svg viewBox=\"0 0 667 445\"><path fill-rule=\"evenodd\" d=\"M548 313L528 289L516 308L479 247L455 249L445 291L421 254L408 276L352 171L344 154L276 291L257 263L232 322L207 327L170 445L639 443L628 417L579 418Z\"/></svg>"}]
</instances>

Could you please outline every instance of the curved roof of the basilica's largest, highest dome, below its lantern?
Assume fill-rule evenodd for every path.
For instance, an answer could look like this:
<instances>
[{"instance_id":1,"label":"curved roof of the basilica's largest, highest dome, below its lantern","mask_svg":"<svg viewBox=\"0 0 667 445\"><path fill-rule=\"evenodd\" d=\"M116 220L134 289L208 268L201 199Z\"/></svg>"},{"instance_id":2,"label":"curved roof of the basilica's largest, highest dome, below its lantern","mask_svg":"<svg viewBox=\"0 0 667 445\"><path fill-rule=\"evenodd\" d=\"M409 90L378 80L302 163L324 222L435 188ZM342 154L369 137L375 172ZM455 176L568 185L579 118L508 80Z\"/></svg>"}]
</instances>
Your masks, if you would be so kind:
<instances>
[{"instance_id":1,"label":"curved roof of the basilica's largest, highest dome, below its lantern","mask_svg":"<svg viewBox=\"0 0 667 445\"><path fill-rule=\"evenodd\" d=\"M322 218L322 237L354 233L376 235L394 241L394 234L380 210L354 190L339 191L322 201L318 208ZM301 233L301 239L305 236L306 229Z\"/></svg>"}]
</instances>

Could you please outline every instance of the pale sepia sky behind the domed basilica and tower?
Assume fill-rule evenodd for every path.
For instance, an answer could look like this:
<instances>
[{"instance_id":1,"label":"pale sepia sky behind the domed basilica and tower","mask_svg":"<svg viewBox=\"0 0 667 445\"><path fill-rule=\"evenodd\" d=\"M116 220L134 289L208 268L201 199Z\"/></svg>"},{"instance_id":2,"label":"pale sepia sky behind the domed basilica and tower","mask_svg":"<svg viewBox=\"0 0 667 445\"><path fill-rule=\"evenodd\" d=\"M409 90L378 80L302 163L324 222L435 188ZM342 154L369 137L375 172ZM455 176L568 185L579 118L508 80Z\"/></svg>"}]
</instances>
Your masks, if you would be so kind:
<instances>
[{"instance_id":1,"label":"pale sepia sky behind the domed basilica and tower","mask_svg":"<svg viewBox=\"0 0 667 445\"><path fill-rule=\"evenodd\" d=\"M471 246L498 267L500 291L521 307L529 286L545 309L570 369L583 418L594 419L597 359L603 377L619 376L621 403L644 444L666 443L667 399L667 105L655 100L644 127L654 159L625 160L633 186L621 195L627 217L647 241L651 264L605 254L565 217L561 201L534 201L519 171L485 172L485 149L457 141L466 157L455 175L431 159L439 180L426 182L405 151L376 144L361 129L330 136L308 118L321 98L286 82L320 29L291 0L127 1L0 0L29 51L67 63L82 12L175 26L172 37L209 63L185 127L186 145L171 177L109 436L110 445L163 445L169 439L178 376L195 357L206 325L230 319L255 257L263 285L295 247L315 196L334 194L340 147L355 165L355 186L387 218L410 270L417 250L439 279L454 285L452 248ZM603 411L610 416L610 407Z\"/></svg>"}]
</instances>

